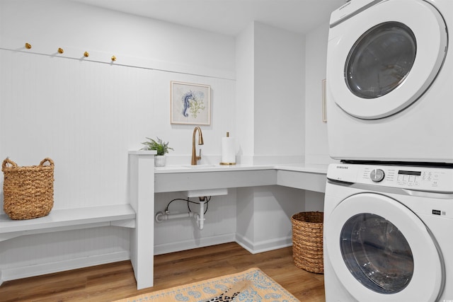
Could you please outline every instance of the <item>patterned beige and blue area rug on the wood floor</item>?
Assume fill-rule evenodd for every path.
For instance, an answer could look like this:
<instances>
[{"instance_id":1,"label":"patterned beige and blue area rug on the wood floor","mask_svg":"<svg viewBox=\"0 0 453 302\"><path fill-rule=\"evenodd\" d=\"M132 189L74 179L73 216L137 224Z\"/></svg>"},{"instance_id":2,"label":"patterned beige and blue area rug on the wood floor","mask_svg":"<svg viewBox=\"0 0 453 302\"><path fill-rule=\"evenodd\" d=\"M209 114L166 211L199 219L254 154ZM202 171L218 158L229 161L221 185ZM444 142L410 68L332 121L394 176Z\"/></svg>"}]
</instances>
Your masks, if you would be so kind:
<instances>
[{"instance_id":1,"label":"patterned beige and blue area rug on the wood floor","mask_svg":"<svg viewBox=\"0 0 453 302\"><path fill-rule=\"evenodd\" d=\"M260 269L248 269L239 274L229 274L183 286L154 291L115 302L205 302L205 301L247 301L247 302L297 302L280 284Z\"/></svg>"}]
</instances>

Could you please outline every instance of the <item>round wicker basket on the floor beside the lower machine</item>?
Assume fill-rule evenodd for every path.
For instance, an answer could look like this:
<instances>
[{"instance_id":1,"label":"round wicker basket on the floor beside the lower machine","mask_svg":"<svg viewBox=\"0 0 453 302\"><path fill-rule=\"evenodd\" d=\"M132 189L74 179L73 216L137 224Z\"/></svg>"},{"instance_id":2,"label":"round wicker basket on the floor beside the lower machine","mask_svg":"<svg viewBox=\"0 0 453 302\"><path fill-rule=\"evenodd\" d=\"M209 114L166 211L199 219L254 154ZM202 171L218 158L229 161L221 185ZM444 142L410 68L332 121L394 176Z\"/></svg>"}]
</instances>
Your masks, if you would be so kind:
<instances>
[{"instance_id":1,"label":"round wicker basket on the floor beside the lower machine","mask_svg":"<svg viewBox=\"0 0 453 302\"><path fill-rule=\"evenodd\" d=\"M323 212L301 212L294 214L291 221L294 265L308 272L322 274L324 272Z\"/></svg>"}]
</instances>

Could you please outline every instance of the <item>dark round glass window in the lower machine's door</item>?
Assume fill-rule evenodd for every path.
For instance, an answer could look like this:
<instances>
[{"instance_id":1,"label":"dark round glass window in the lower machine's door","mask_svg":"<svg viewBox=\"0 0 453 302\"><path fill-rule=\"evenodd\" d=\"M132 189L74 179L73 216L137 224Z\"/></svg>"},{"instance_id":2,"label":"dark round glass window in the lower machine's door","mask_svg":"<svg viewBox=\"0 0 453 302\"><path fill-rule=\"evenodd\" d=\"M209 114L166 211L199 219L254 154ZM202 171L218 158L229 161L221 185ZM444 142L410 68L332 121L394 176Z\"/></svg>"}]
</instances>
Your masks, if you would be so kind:
<instances>
[{"instance_id":1,"label":"dark round glass window in the lower machine's door","mask_svg":"<svg viewBox=\"0 0 453 302\"><path fill-rule=\"evenodd\" d=\"M395 294L411 281L414 262L408 241L381 216L352 216L340 233L340 250L355 279L372 291Z\"/></svg>"}]
</instances>

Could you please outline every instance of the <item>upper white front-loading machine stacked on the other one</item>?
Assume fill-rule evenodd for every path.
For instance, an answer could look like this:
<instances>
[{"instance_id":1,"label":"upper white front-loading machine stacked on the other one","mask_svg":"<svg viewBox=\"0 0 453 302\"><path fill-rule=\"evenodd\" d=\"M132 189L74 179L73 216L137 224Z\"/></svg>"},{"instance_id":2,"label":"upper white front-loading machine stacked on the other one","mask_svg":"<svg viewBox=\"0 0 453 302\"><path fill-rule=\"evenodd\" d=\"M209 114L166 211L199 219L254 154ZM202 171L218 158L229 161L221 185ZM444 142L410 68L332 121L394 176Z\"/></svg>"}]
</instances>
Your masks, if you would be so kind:
<instances>
[{"instance_id":1,"label":"upper white front-loading machine stacked on the other one","mask_svg":"<svg viewBox=\"0 0 453 302\"><path fill-rule=\"evenodd\" d=\"M453 163L452 0L351 0L331 14L332 158Z\"/></svg>"}]
</instances>

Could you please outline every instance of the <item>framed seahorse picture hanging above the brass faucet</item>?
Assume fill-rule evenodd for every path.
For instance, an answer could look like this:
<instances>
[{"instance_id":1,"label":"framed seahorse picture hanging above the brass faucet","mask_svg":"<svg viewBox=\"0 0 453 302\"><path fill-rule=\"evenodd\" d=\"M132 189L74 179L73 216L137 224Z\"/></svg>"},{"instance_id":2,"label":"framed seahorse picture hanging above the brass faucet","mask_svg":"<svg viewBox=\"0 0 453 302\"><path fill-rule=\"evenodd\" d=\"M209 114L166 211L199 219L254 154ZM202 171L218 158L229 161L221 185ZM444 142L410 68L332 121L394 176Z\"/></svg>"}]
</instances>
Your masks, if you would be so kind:
<instances>
[{"instance_id":1,"label":"framed seahorse picture hanging above the brass faucet","mask_svg":"<svg viewBox=\"0 0 453 302\"><path fill-rule=\"evenodd\" d=\"M171 124L211 124L211 86L171 81Z\"/></svg>"}]
</instances>

